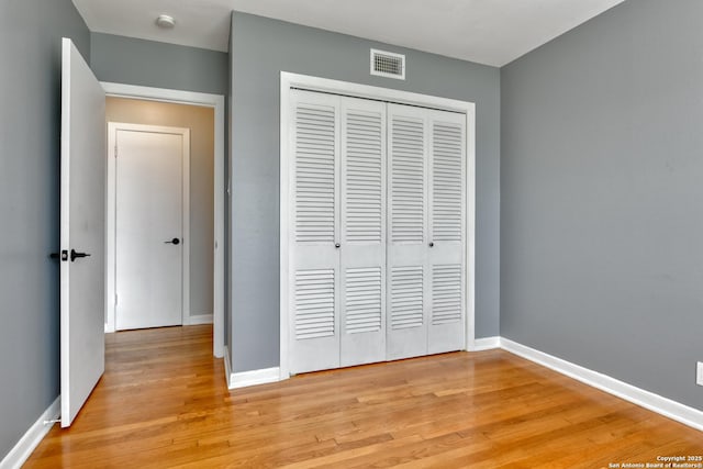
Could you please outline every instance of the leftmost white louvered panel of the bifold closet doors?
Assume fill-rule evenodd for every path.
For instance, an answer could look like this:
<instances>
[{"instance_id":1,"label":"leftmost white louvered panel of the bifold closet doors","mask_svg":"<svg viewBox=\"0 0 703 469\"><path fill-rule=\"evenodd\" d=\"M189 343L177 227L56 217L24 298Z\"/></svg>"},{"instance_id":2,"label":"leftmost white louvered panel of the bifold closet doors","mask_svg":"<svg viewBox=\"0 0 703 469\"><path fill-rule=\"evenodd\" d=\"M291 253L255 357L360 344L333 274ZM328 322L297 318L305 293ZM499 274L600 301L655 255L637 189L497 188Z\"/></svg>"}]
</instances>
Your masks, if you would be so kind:
<instances>
[{"instance_id":1,"label":"leftmost white louvered panel of the bifold closet doors","mask_svg":"<svg viewBox=\"0 0 703 469\"><path fill-rule=\"evenodd\" d=\"M339 97L291 90L291 373L339 367Z\"/></svg>"}]
</instances>

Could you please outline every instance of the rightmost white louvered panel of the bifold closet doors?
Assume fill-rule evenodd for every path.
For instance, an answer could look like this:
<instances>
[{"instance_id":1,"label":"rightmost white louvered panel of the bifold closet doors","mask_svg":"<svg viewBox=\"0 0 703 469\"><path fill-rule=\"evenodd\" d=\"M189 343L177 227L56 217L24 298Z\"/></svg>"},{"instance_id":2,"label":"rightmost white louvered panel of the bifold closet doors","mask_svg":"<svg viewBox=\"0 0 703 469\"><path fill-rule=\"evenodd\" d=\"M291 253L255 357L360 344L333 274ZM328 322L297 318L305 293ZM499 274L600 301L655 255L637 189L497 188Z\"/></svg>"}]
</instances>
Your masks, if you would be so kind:
<instances>
[{"instance_id":1,"label":"rightmost white louvered panel of the bifold closet doors","mask_svg":"<svg viewBox=\"0 0 703 469\"><path fill-rule=\"evenodd\" d=\"M465 347L466 115L427 111L431 281L428 354Z\"/></svg>"}]
</instances>

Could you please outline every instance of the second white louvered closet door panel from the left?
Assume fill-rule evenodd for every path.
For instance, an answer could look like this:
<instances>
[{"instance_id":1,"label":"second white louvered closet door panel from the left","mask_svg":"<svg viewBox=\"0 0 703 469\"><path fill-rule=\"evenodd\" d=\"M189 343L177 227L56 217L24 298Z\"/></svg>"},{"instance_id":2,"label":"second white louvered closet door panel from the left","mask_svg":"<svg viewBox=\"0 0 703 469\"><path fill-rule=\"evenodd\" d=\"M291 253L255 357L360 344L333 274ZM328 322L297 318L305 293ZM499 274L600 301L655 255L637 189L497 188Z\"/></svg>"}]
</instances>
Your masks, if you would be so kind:
<instances>
[{"instance_id":1,"label":"second white louvered closet door panel from the left","mask_svg":"<svg viewBox=\"0 0 703 469\"><path fill-rule=\"evenodd\" d=\"M343 367L386 359L386 103L342 102Z\"/></svg>"}]
</instances>

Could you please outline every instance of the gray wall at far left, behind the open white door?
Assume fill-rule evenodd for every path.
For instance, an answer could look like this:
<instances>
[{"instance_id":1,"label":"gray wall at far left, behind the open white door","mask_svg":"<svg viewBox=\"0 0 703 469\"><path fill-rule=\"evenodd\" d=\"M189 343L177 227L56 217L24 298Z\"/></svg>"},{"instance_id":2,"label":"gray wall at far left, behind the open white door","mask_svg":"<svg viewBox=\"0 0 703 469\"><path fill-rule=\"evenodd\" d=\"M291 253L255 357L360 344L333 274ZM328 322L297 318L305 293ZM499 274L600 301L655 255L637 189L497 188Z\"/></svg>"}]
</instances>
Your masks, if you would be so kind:
<instances>
[{"instance_id":1,"label":"gray wall at far left, behind the open white door","mask_svg":"<svg viewBox=\"0 0 703 469\"><path fill-rule=\"evenodd\" d=\"M0 460L59 393L60 40L70 0L0 2Z\"/></svg>"}]
</instances>

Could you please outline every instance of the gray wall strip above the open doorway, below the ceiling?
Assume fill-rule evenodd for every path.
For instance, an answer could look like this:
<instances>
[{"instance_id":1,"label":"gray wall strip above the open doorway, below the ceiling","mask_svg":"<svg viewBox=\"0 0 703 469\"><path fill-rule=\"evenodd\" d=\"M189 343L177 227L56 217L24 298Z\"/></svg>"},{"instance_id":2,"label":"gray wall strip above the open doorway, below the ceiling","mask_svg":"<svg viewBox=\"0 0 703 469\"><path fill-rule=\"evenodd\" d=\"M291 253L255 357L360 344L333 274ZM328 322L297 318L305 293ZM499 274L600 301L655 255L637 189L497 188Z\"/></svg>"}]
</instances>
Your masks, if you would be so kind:
<instances>
[{"instance_id":1,"label":"gray wall strip above the open doorway, below the ceiling","mask_svg":"<svg viewBox=\"0 0 703 469\"><path fill-rule=\"evenodd\" d=\"M227 93L227 54L91 33L90 68L101 81Z\"/></svg>"}]
</instances>

